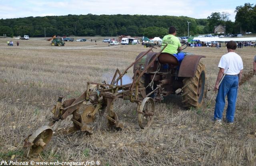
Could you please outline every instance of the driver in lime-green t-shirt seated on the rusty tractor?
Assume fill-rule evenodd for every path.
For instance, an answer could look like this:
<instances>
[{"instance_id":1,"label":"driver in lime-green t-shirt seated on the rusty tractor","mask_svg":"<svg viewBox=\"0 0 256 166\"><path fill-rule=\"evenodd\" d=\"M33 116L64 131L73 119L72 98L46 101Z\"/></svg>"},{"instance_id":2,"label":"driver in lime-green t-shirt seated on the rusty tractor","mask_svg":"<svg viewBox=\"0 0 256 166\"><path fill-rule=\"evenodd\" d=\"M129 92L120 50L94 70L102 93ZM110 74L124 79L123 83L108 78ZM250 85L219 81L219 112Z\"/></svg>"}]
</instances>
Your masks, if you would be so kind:
<instances>
[{"instance_id":1,"label":"driver in lime-green t-shirt seated on the rusty tractor","mask_svg":"<svg viewBox=\"0 0 256 166\"><path fill-rule=\"evenodd\" d=\"M178 50L182 50L180 40L175 36L176 28L174 26L170 26L169 34L164 36L162 42L162 48L166 46L163 52L159 56L160 63L167 63L169 65L180 66L181 61L184 59L185 54L183 52L179 52Z\"/></svg>"}]
</instances>

